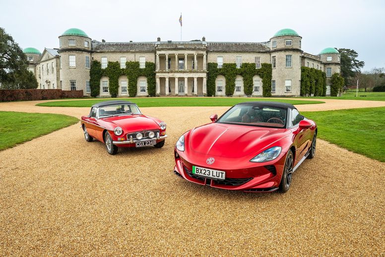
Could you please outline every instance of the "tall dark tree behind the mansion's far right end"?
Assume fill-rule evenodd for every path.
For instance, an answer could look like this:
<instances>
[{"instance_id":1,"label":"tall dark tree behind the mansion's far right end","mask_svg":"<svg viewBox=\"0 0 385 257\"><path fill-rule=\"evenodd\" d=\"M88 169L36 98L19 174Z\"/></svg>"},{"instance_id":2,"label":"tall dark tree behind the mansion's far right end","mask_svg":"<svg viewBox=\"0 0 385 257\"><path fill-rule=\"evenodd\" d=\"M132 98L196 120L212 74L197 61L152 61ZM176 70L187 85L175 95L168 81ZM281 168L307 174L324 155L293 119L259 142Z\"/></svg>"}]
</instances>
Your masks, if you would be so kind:
<instances>
[{"instance_id":1,"label":"tall dark tree behind the mansion's far right end","mask_svg":"<svg viewBox=\"0 0 385 257\"><path fill-rule=\"evenodd\" d=\"M341 54L341 76L346 83L349 83L350 78L353 78L356 72L360 72L365 63L357 60L358 53L352 49L339 48L337 50Z\"/></svg>"}]
</instances>

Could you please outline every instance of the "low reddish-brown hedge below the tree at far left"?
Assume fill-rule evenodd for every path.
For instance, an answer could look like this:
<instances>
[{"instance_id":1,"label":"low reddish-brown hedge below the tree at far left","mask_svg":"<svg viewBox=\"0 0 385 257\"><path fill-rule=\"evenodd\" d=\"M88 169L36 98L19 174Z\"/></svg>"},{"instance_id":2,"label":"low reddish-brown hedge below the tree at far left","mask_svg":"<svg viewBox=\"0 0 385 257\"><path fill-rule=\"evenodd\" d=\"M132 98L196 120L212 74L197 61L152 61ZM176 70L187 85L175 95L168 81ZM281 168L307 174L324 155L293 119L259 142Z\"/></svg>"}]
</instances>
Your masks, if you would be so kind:
<instances>
[{"instance_id":1,"label":"low reddish-brown hedge below the tree at far left","mask_svg":"<svg viewBox=\"0 0 385 257\"><path fill-rule=\"evenodd\" d=\"M81 98L83 90L62 89L0 89L0 101L32 101L60 98Z\"/></svg>"}]
</instances>

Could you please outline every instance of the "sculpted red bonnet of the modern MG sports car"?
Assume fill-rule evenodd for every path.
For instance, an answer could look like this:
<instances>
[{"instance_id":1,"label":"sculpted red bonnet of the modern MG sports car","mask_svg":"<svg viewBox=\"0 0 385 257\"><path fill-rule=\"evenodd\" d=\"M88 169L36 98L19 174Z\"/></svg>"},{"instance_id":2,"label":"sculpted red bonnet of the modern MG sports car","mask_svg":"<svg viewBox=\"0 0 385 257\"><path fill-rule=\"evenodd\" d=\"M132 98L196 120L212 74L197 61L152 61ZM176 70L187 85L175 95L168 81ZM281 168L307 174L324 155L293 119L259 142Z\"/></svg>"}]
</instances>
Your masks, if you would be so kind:
<instances>
[{"instance_id":1,"label":"sculpted red bonnet of the modern MG sports car","mask_svg":"<svg viewBox=\"0 0 385 257\"><path fill-rule=\"evenodd\" d=\"M282 128L210 123L191 130L188 142L192 152L241 158L258 154L287 135Z\"/></svg>"}]
</instances>

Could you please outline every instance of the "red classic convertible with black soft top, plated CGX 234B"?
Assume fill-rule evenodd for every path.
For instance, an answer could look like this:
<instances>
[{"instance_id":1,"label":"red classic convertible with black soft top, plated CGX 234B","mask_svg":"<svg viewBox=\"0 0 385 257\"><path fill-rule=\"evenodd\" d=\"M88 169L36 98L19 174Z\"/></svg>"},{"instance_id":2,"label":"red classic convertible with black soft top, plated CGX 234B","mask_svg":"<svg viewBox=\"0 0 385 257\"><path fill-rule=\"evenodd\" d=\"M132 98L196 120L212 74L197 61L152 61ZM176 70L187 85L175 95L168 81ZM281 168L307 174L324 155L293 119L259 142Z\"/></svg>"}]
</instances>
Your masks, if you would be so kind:
<instances>
[{"instance_id":1,"label":"red classic convertible with black soft top, plated CGX 234B","mask_svg":"<svg viewBox=\"0 0 385 257\"><path fill-rule=\"evenodd\" d=\"M118 146L161 148L167 137L166 123L143 115L138 106L129 101L95 103L80 123L85 140L103 142L110 155L118 153Z\"/></svg>"}]
</instances>

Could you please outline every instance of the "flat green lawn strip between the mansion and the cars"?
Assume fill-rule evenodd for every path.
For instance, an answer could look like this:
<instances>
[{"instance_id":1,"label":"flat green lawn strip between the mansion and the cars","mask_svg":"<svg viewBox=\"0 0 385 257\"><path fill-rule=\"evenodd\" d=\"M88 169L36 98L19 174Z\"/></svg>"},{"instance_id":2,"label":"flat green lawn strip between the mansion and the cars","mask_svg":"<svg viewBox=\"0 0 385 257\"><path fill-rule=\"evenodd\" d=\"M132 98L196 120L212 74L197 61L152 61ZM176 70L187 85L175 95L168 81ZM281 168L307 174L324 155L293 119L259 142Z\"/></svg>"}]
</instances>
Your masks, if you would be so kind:
<instances>
[{"instance_id":1,"label":"flat green lawn strip between the mansion and the cars","mask_svg":"<svg viewBox=\"0 0 385 257\"><path fill-rule=\"evenodd\" d=\"M36 104L38 106L55 107L90 107L92 104L112 99L94 98L90 100L52 101ZM146 98L115 98L114 100L128 100L139 107L168 107L168 106L233 106L246 101L274 101L292 104L323 103L316 100L274 99L274 98L236 98L236 97L146 97Z\"/></svg>"}]
</instances>

